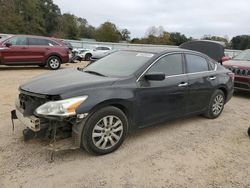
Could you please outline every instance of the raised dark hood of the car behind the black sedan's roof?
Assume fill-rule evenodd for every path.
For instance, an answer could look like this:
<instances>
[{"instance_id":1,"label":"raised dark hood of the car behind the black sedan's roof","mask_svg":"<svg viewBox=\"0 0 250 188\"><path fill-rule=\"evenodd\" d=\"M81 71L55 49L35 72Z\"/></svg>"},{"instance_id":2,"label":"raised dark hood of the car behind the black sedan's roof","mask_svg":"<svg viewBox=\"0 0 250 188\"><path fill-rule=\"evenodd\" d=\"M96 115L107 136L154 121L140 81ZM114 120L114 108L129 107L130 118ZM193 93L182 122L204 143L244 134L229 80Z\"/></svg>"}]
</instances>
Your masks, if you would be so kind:
<instances>
[{"instance_id":1,"label":"raised dark hood of the car behind the black sedan's roof","mask_svg":"<svg viewBox=\"0 0 250 188\"><path fill-rule=\"evenodd\" d=\"M218 63L228 61L230 57L225 56L225 44L223 42L211 40L195 40L181 44L182 49L194 50L211 57Z\"/></svg>"}]
</instances>

